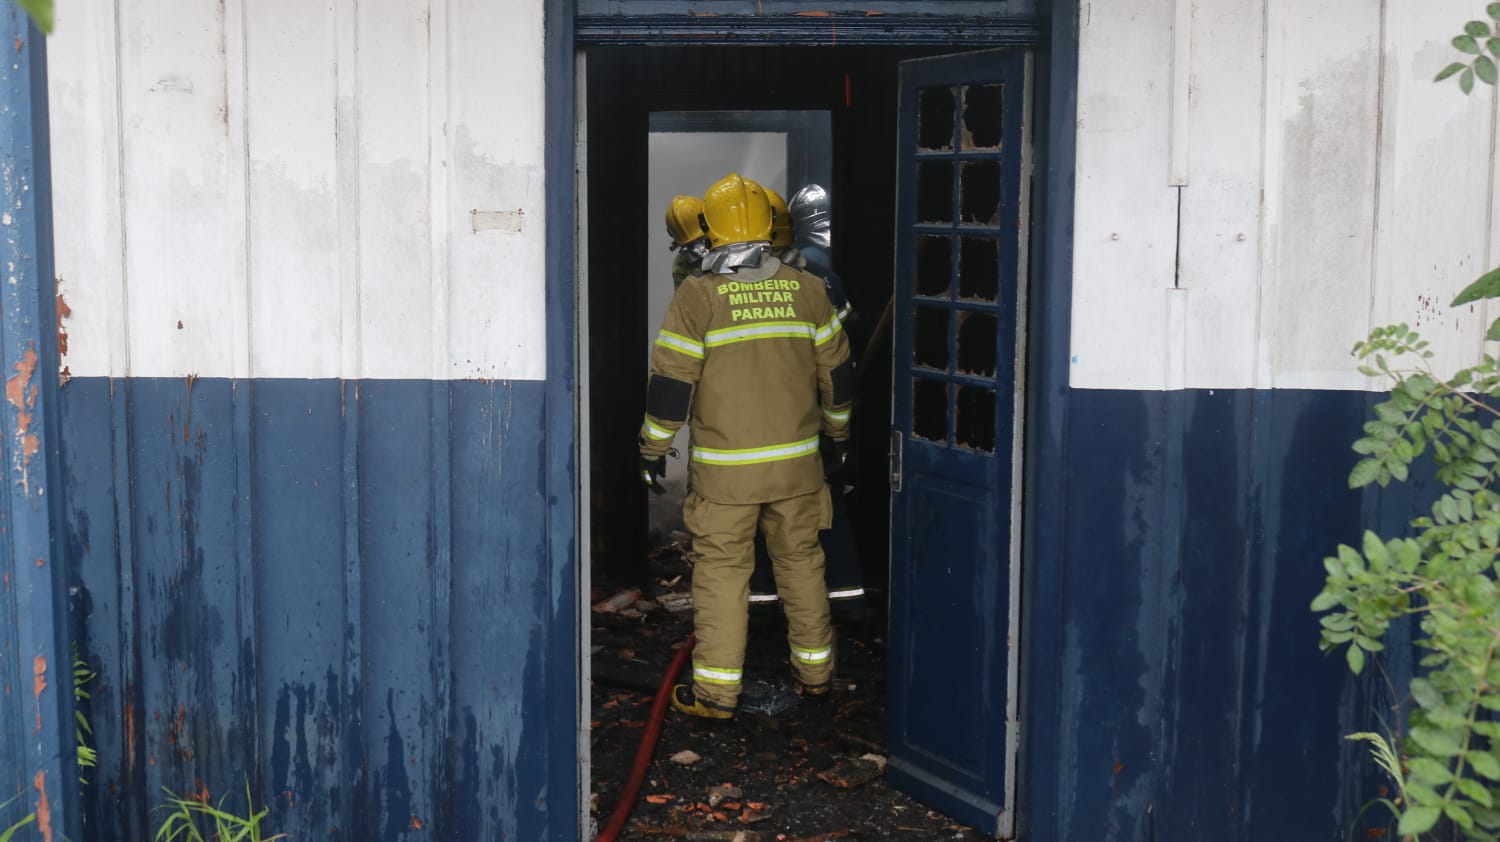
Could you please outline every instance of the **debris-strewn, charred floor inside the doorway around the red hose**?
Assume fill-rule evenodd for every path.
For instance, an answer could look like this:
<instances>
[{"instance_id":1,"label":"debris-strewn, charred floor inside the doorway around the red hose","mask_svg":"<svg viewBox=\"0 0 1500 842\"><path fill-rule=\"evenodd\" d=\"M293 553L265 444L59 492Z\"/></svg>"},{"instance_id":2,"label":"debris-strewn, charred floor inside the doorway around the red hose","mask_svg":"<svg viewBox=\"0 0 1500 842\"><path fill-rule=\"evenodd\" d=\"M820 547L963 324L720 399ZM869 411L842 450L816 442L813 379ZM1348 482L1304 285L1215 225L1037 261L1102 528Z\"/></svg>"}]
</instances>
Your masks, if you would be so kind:
<instances>
[{"instance_id":1,"label":"debris-strewn, charred floor inside the doorway around the red hose","mask_svg":"<svg viewBox=\"0 0 1500 842\"><path fill-rule=\"evenodd\" d=\"M686 536L654 551L654 593L596 590L592 612L592 816L609 819L651 713L652 692L692 632ZM669 609L675 608L675 611ZM884 620L838 624L838 666L826 696L792 693L786 626L756 620L746 693L776 716L705 722L670 708L640 797L620 839L814 840L984 839L892 789L885 764ZM633 686L632 686L633 684Z\"/></svg>"}]
</instances>

